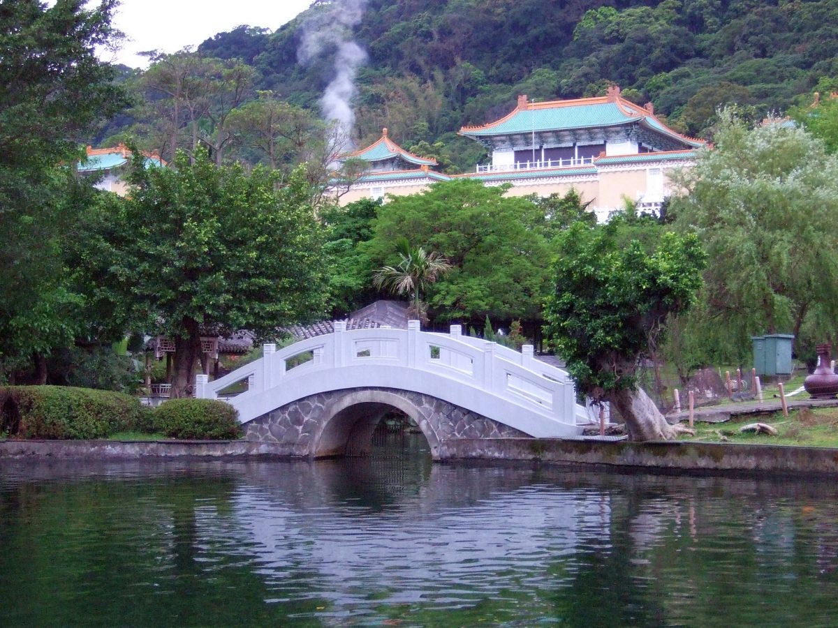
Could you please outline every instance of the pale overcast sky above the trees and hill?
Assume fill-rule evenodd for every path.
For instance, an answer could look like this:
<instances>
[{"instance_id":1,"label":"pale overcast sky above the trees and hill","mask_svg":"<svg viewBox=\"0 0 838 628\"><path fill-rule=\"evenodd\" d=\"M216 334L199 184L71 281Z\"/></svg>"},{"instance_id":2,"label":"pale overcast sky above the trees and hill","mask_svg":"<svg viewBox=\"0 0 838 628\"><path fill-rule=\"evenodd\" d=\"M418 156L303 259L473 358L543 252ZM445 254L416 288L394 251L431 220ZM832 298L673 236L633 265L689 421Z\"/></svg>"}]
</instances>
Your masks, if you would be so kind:
<instances>
[{"instance_id":1,"label":"pale overcast sky above the trees and hill","mask_svg":"<svg viewBox=\"0 0 838 628\"><path fill-rule=\"evenodd\" d=\"M122 0L113 25L126 33L114 63L145 67L138 57L143 50L173 53L184 46L197 47L215 33L241 24L276 30L303 12L312 0ZM54 4L49 2L49 4Z\"/></svg>"}]
</instances>

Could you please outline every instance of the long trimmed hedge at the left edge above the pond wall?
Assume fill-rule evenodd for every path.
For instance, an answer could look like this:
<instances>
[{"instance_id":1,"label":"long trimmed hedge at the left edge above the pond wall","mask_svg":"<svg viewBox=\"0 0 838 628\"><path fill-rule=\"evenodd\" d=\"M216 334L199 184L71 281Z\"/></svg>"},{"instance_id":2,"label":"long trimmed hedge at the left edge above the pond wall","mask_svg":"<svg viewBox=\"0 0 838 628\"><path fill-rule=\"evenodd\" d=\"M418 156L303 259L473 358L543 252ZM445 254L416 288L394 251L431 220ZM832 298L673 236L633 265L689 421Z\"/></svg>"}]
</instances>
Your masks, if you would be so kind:
<instances>
[{"instance_id":1,"label":"long trimmed hedge at the left edge above the pond wall","mask_svg":"<svg viewBox=\"0 0 838 628\"><path fill-rule=\"evenodd\" d=\"M96 439L152 429L151 409L129 394L70 386L0 387L0 432L8 436Z\"/></svg>"}]
</instances>

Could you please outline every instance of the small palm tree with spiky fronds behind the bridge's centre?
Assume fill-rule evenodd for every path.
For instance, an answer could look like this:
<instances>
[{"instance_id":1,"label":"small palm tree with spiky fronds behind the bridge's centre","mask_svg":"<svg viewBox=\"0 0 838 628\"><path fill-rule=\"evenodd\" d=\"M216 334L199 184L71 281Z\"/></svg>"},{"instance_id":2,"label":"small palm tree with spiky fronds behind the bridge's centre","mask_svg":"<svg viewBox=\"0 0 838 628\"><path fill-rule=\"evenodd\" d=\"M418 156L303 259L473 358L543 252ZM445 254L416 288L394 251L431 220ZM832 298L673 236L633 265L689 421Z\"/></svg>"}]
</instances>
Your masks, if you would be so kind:
<instances>
[{"instance_id":1,"label":"small palm tree with spiky fronds behind the bridge's centre","mask_svg":"<svg viewBox=\"0 0 838 628\"><path fill-rule=\"evenodd\" d=\"M439 275L447 273L452 266L436 251L428 253L421 246L411 246L406 238L396 239L396 253L401 261L395 266L385 266L373 273L373 286L399 295L411 296L411 309L416 317L427 322L422 306L422 292L425 286L437 281Z\"/></svg>"}]
</instances>

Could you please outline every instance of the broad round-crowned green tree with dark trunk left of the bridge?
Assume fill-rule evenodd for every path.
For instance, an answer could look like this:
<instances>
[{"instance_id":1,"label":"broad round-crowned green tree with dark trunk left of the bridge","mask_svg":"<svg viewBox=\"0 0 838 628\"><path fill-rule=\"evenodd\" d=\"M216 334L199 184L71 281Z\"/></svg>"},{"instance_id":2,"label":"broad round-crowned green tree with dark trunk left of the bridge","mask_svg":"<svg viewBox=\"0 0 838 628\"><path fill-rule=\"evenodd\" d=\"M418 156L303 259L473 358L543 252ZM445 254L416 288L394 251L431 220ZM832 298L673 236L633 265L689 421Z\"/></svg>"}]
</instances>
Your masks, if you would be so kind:
<instances>
[{"instance_id":1,"label":"broad round-crowned green tree with dark trunk left of the bridge","mask_svg":"<svg viewBox=\"0 0 838 628\"><path fill-rule=\"evenodd\" d=\"M187 394L202 334L263 334L323 306L320 239L302 172L282 187L257 167L178 152L173 168L137 159L130 198L91 230L85 259L116 315L175 341L173 394Z\"/></svg>"}]
</instances>

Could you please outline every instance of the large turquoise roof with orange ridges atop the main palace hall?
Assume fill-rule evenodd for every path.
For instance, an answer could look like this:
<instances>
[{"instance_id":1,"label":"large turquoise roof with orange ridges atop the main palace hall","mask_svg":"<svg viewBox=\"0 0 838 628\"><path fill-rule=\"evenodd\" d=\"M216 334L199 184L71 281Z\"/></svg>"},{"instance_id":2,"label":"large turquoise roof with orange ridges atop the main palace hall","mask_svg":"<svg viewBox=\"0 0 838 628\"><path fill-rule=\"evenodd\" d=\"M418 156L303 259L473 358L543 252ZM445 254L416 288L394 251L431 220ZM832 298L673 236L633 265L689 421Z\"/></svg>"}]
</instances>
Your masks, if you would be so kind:
<instances>
[{"instance_id":1,"label":"large turquoise roof with orange ridges atop the main palace hall","mask_svg":"<svg viewBox=\"0 0 838 628\"><path fill-rule=\"evenodd\" d=\"M483 126L463 126L460 135L479 139L541 131L570 131L609 126L639 124L669 136L688 147L704 146L703 141L681 135L654 117L651 103L641 107L620 96L616 86L608 88L608 95L575 100L530 102L526 95L518 97L518 106L507 116Z\"/></svg>"}]
</instances>

